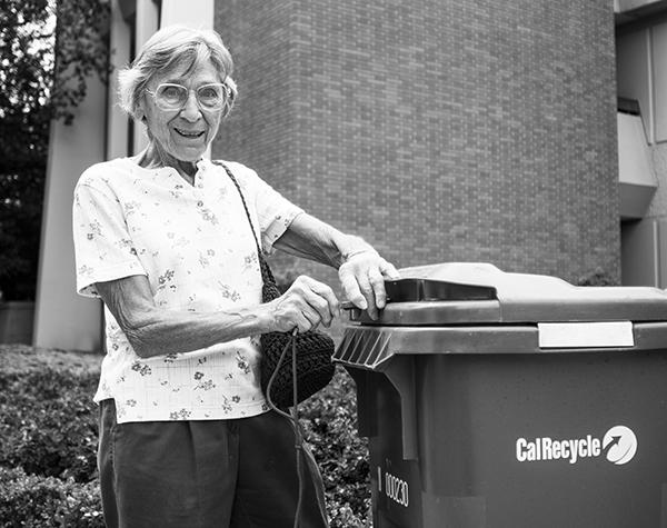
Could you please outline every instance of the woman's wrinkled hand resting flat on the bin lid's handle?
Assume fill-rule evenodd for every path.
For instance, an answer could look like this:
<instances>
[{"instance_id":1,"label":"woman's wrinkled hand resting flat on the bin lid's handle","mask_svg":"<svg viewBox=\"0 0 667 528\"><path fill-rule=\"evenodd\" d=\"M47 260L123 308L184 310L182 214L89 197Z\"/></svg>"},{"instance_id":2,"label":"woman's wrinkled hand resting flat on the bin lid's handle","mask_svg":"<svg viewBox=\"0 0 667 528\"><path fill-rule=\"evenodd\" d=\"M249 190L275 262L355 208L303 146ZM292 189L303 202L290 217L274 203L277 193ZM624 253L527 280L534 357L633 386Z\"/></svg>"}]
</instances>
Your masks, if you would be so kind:
<instances>
[{"instance_id":1,"label":"woman's wrinkled hand resting flat on the bin lid's handle","mask_svg":"<svg viewBox=\"0 0 667 528\"><path fill-rule=\"evenodd\" d=\"M378 310L387 303L385 279L397 280L400 275L376 251L366 250L349 257L338 269L338 277L347 299L377 319Z\"/></svg>"}]
</instances>

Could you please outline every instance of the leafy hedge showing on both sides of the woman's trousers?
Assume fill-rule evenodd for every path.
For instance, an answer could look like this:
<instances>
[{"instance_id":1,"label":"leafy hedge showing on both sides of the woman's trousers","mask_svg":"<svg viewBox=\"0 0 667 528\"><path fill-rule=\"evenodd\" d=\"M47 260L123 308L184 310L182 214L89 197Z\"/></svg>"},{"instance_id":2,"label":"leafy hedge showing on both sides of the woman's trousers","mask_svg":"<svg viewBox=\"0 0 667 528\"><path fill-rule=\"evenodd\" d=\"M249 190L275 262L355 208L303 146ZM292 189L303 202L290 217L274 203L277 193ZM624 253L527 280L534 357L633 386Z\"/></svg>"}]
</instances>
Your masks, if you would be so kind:
<instances>
[{"instance_id":1,"label":"leafy hedge showing on both sides of the woman's trousers","mask_svg":"<svg viewBox=\"0 0 667 528\"><path fill-rule=\"evenodd\" d=\"M100 356L0 346L2 527L103 527L97 479ZM365 528L368 450L354 382L339 369L303 402L301 424L322 469L331 528Z\"/></svg>"}]
</instances>

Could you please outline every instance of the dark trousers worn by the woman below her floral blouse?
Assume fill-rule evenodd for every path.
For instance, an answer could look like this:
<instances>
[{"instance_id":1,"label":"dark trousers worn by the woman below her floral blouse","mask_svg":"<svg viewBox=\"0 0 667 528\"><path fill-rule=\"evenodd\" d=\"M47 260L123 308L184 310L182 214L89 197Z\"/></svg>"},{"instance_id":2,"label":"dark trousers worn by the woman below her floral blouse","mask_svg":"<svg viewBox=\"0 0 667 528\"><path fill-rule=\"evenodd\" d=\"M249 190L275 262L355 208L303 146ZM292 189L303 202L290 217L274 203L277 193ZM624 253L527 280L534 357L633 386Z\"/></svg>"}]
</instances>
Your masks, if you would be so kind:
<instances>
[{"instance_id":1,"label":"dark trousers worn by the woman below her floral blouse","mask_svg":"<svg viewBox=\"0 0 667 528\"><path fill-rule=\"evenodd\" d=\"M100 404L98 452L109 528L292 528L295 435L276 412L235 420L116 422ZM323 486L301 455L301 528L327 527Z\"/></svg>"}]
</instances>

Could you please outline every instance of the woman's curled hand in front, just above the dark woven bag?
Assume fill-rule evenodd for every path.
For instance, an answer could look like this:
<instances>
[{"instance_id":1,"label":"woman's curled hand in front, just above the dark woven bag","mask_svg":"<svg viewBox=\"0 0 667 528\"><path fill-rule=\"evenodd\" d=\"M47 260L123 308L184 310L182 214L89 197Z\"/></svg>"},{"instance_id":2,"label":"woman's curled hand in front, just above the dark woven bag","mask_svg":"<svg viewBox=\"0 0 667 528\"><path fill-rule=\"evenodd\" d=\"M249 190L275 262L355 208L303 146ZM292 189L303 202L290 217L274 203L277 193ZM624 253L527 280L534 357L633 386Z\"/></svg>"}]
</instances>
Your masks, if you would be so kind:
<instances>
[{"instance_id":1,"label":"woman's curled hand in front, just above the dark woven bag","mask_svg":"<svg viewBox=\"0 0 667 528\"><path fill-rule=\"evenodd\" d=\"M331 325L340 315L340 302L323 282L300 276L278 299L263 305L268 309L269 331L299 332Z\"/></svg>"}]
</instances>

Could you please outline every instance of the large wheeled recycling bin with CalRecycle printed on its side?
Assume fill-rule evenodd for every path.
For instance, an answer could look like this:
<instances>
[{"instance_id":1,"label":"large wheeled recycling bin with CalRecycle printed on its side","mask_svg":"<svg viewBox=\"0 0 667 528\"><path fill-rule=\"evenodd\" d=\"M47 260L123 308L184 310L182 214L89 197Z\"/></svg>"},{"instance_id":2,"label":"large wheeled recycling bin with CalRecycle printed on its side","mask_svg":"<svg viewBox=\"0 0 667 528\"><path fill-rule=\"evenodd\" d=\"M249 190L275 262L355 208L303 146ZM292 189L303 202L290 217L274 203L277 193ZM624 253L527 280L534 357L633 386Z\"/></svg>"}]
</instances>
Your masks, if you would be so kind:
<instances>
[{"instance_id":1,"label":"large wheeled recycling bin with CalRecycle printed on its side","mask_svg":"<svg viewBox=\"0 0 667 528\"><path fill-rule=\"evenodd\" d=\"M335 353L375 528L667 527L667 293L465 262L387 291Z\"/></svg>"}]
</instances>

